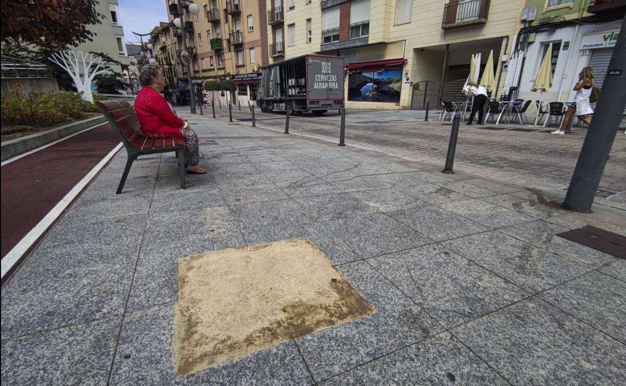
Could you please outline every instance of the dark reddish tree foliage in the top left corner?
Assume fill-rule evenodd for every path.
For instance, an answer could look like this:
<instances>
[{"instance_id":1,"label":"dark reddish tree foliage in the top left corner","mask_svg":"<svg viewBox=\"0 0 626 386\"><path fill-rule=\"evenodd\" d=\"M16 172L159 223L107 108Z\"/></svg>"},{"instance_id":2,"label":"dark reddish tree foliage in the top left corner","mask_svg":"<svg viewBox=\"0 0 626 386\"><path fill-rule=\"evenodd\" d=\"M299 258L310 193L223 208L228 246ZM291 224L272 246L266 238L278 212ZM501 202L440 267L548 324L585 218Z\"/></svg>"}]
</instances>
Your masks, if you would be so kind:
<instances>
[{"instance_id":1,"label":"dark reddish tree foliage in the top left corner","mask_svg":"<svg viewBox=\"0 0 626 386\"><path fill-rule=\"evenodd\" d=\"M59 51L92 41L91 24L103 15L96 0L11 0L3 2L2 42L34 44Z\"/></svg>"}]
</instances>

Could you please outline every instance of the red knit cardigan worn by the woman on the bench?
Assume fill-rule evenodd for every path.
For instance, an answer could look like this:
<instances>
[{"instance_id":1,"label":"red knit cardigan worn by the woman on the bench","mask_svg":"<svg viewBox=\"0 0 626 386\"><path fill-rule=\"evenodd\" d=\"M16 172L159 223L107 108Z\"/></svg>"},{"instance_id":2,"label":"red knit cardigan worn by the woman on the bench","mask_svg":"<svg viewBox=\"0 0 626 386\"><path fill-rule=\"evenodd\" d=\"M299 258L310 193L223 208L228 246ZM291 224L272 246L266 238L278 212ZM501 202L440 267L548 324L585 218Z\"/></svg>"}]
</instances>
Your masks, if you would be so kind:
<instances>
[{"instance_id":1,"label":"red knit cardigan worn by the woman on the bench","mask_svg":"<svg viewBox=\"0 0 626 386\"><path fill-rule=\"evenodd\" d=\"M185 123L172 113L165 98L150 86L144 86L137 94L135 112L144 135L158 134L185 139L179 130Z\"/></svg>"}]
</instances>

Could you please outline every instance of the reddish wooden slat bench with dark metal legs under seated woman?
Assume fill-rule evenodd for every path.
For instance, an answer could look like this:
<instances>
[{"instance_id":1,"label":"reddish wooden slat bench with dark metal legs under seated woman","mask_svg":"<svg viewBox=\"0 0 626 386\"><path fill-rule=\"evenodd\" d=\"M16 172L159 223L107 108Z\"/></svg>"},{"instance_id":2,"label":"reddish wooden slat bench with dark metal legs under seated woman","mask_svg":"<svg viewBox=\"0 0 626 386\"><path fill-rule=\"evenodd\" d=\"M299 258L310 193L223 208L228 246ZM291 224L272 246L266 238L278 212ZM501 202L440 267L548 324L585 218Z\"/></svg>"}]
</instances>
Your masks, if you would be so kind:
<instances>
[{"instance_id":1,"label":"reddish wooden slat bench with dark metal legs under seated woman","mask_svg":"<svg viewBox=\"0 0 626 386\"><path fill-rule=\"evenodd\" d=\"M141 134L141 126L135 113L135 108L128 103L128 101L108 100L108 101L96 101L98 110L102 113L106 119L108 119L111 126L115 129L115 132L120 136L120 140L126 148L128 153L128 159L126 160L126 167L124 173L121 176L120 185L115 192L116 195L121 193L126 183L126 177L130 171L130 166L133 165L138 156L155 154L155 153L168 153L170 151L176 152L178 158L178 168L180 169L180 187L185 189L185 149L187 145L185 140L180 138L163 138L160 140L153 140Z\"/></svg>"}]
</instances>

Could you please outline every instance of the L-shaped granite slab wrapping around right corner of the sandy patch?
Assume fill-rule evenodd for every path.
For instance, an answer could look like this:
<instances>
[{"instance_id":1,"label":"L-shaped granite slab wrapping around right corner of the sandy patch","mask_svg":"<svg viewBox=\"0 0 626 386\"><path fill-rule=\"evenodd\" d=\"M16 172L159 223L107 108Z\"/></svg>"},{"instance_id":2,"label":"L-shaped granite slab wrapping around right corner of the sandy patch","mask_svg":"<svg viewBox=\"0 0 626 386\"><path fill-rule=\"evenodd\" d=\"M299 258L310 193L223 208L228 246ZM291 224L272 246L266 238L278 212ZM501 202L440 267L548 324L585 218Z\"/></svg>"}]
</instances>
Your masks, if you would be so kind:
<instances>
[{"instance_id":1,"label":"L-shaped granite slab wrapping around right corner of the sandy patch","mask_svg":"<svg viewBox=\"0 0 626 386\"><path fill-rule=\"evenodd\" d=\"M441 332L439 323L367 262L341 265L339 270L376 313L297 339L316 381Z\"/></svg>"}]
</instances>

